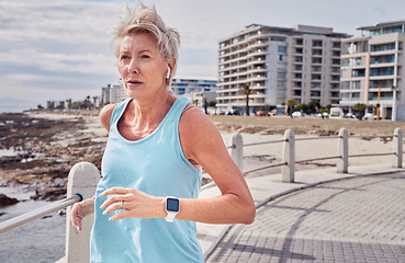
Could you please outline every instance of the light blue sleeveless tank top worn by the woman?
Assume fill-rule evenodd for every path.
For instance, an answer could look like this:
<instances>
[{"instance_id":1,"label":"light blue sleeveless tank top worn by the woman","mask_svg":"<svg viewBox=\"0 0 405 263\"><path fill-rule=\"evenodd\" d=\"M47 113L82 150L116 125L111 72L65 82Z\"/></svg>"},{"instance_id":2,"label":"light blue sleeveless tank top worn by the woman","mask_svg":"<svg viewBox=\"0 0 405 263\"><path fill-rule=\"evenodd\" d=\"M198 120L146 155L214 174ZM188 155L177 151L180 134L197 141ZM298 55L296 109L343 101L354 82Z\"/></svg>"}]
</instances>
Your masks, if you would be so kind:
<instances>
[{"instance_id":1,"label":"light blue sleeveless tank top worn by the woman","mask_svg":"<svg viewBox=\"0 0 405 263\"><path fill-rule=\"evenodd\" d=\"M95 193L94 225L90 237L91 262L183 263L204 262L195 222L165 218L126 218L110 221L102 215L99 196L113 186L132 187L154 196L198 198L201 171L187 160L180 144L179 121L189 103L177 99L158 128L148 137L130 141L117 123L131 99L117 104L101 163L102 179ZM180 204L181 209L181 204Z\"/></svg>"}]
</instances>

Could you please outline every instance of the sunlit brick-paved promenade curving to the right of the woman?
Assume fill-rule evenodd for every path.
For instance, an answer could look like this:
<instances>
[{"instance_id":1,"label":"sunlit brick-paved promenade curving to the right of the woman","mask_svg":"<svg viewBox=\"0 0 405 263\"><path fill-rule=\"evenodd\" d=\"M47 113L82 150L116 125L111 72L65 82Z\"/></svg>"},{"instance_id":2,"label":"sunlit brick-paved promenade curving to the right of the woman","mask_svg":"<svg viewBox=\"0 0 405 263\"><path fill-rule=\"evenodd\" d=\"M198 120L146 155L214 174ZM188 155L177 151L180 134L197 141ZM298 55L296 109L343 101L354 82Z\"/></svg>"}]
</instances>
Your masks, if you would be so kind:
<instances>
[{"instance_id":1,"label":"sunlit brick-paved promenade curving to the right of the woman","mask_svg":"<svg viewBox=\"0 0 405 263\"><path fill-rule=\"evenodd\" d=\"M211 230L200 225L206 262L405 262L404 170L315 173L299 172L293 184L277 175L248 179L260 205L256 220ZM323 181L330 182L317 184Z\"/></svg>"}]
</instances>

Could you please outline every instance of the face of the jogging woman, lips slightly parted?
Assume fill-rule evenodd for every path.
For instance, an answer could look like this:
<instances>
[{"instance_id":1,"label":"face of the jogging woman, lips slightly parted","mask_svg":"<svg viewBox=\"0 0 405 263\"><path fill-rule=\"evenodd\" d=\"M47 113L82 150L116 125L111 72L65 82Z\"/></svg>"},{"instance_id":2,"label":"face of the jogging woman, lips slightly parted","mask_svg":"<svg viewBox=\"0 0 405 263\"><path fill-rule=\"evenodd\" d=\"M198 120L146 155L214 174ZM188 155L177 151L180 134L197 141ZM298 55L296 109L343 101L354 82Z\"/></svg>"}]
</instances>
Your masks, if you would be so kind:
<instances>
[{"instance_id":1,"label":"face of the jogging woman, lips slightly parted","mask_svg":"<svg viewBox=\"0 0 405 263\"><path fill-rule=\"evenodd\" d=\"M167 92L168 66L151 34L136 33L122 38L116 67L130 98L150 100Z\"/></svg>"}]
</instances>

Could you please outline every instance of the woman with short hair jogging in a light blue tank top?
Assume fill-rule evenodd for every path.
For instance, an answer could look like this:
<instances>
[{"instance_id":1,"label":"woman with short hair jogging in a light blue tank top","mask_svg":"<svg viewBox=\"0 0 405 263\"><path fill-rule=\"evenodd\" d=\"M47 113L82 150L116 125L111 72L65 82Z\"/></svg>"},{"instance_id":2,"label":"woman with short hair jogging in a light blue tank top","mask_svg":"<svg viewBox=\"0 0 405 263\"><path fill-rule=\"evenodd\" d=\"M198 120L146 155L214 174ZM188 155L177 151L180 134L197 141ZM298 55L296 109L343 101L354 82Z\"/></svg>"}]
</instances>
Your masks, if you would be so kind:
<instances>
[{"instance_id":1,"label":"woman with short hair jogging in a light blue tank top","mask_svg":"<svg viewBox=\"0 0 405 263\"><path fill-rule=\"evenodd\" d=\"M105 106L102 179L72 222L95 211L91 262L203 262L195 221L251 224L255 204L205 114L168 91L179 34L137 3L113 26L116 67L128 99ZM198 198L202 168L222 194Z\"/></svg>"}]
</instances>

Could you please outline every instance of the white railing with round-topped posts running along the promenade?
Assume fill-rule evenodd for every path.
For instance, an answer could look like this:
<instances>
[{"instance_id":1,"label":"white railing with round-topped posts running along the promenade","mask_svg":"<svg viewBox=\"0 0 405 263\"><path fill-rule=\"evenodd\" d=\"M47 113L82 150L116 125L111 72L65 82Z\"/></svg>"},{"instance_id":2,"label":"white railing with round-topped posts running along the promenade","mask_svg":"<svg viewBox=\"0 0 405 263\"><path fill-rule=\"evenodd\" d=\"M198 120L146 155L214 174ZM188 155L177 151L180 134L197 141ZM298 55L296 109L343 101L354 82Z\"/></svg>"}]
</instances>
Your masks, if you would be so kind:
<instances>
[{"instance_id":1,"label":"white railing with round-topped posts running along the promenade","mask_svg":"<svg viewBox=\"0 0 405 263\"><path fill-rule=\"evenodd\" d=\"M393 139L393 151L380 152L380 153L361 153L361 155L349 155L349 137L356 138L392 138ZM337 139L337 155L329 157L319 157L305 160L295 160L295 141L296 140L313 140L313 139ZM266 144L283 144L282 160L279 163L255 168L251 170L244 171L244 147L251 147ZM234 134L230 146L227 147L230 152L230 157L236 162L243 174L246 176L249 173L281 167L282 181L294 182L295 175L295 163L311 162L317 160L336 159L336 168L339 173L348 172L348 159L353 157L368 157L368 156L393 156L392 165L395 168L402 168L403 162L403 132L401 128L395 128L393 135L348 135L346 128L339 130L337 136L316 136L316 137L302 137L295 138L294 132L291 129L285 130L283 139L267 140L260 142L245 144L240 134ZM94 195L97 184L100 180L100 172L95 165L89 162L79 162L72 167L68 176L67 198L55 202L43 208L29 211L22 216L12 218L8 221L0 224L0 235L10 231L16 227L25 225L37 218L49 215L56 210L68 208L66 217L66 256L58 262L89 262L89 236L93 224L93 216L88 216L82 221L82 230L78 231L70 224L70 206L81 199L90 198ZM201 187L205 190L214 186L215 183L211 182Z\"/></svg>"}]
</instances>

